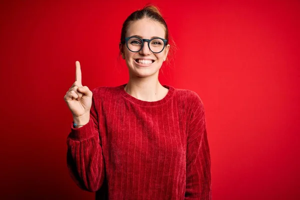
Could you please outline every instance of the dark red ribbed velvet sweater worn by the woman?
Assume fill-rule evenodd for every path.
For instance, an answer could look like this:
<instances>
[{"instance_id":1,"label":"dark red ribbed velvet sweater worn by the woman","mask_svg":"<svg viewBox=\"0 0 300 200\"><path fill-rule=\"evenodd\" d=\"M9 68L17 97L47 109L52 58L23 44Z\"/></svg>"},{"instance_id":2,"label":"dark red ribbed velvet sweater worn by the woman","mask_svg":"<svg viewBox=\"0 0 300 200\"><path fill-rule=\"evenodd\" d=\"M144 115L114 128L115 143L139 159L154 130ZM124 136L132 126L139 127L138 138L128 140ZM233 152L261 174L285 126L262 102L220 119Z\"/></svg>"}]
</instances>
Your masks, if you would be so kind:
<instances>
[{"instance_id":1,"label":"dark red ribbed velvet sweater worn by the woman","mask_svg":"<svg viewBox=\"0 0 300 200\"><path fill-rule=\"evenodd\" d=\"M211 199L203 103L168 88L142 101L124 86L92 90L90 120L67 137L71 177L96 199Z\"/></svg>"}]
</instances>

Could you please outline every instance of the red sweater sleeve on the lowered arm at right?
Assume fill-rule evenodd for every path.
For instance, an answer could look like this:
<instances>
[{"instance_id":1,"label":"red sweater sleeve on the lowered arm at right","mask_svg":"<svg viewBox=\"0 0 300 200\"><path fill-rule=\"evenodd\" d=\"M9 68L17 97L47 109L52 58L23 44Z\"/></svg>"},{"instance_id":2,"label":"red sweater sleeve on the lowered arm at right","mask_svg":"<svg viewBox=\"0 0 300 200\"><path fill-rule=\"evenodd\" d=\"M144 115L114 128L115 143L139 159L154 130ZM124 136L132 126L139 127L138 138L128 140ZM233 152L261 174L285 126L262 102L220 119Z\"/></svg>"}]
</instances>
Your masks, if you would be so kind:
<instances>
[{"instance_id":1,"label":"red sweater sleeve on the lowered arm at right","mask_svg":"<svg viewBox=\"0 0 300 200\"><path fill-rule=\"evenodd\" d=\"M184 199L211 199L210 152L204 107L193 92L193 106L187 127L186 188Z\"/></svg>"}]
</instances>

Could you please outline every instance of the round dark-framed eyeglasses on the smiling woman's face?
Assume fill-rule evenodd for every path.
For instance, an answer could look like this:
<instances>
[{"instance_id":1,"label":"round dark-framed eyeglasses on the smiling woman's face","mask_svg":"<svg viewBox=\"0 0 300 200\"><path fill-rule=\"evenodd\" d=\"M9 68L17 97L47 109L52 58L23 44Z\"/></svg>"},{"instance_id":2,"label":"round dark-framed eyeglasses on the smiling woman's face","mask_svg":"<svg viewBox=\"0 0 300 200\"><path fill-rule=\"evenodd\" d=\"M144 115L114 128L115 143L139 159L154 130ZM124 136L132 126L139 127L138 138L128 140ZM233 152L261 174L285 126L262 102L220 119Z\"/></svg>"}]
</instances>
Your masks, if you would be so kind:
<instances>
[{"instance_id":1,"label":"round dark-framed eyeglasses on the smiling woman's face","mask_svg":"<svg viewBox=\"0 0 300 200\"><path fill-rule=\"evenodd\" d=\"M141 39L137 36L125 37L127 48L132 52L138 52L142 49L144 42L148 42L148 47L153 53L160 53L167 42L167 39L154 37L152 39Z\"/></svg>"}]
</instances>

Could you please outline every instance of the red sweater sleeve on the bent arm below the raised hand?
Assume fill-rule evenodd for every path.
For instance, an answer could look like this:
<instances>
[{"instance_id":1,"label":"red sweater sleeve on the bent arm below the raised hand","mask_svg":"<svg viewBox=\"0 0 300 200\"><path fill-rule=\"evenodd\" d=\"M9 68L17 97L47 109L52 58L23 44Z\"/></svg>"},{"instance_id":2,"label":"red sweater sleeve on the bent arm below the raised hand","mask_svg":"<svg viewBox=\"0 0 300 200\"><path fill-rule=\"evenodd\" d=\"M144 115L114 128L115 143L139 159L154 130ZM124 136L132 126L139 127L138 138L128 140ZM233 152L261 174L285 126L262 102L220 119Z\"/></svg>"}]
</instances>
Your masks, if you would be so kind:
<instances>
[{"instance_id":1,"label":"red sweater sleeve on the bent arm below the raised hand","mask_svg":"<svg viewBox=\"0 0 300 200\"><path fill-rule=\"evenodd\" d=\"M105 172L94 97L88 123L78 128L71 124L66 141L67 167L71 178L84 190L98 190L103 183Z\"/></svg>"}]
</instances>

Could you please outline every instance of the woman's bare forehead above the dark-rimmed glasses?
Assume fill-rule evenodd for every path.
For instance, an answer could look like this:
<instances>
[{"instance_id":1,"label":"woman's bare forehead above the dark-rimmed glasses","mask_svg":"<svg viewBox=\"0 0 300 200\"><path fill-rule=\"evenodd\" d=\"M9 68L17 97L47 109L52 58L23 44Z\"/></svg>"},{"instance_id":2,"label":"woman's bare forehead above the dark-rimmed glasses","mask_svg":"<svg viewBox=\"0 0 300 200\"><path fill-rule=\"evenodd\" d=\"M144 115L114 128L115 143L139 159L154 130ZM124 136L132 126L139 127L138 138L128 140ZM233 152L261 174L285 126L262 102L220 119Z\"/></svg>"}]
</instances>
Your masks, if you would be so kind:
<instances>
[{"instance_id":1,"label":"woman's bare forehead above the dark-rimmed glasses","mask_svg":"<svg viewBox=\"0 0 300 200\"><path fill-rule=\"evenodd\" d=\"M152 19L143 18L130 23L126 37L131 35L140 35L143 38L151 38L153 36L164 38L165 30L161 23Z\"/></svg>"}]
</instances>

